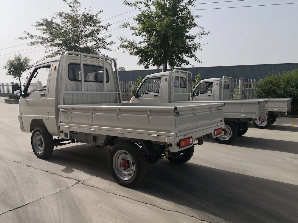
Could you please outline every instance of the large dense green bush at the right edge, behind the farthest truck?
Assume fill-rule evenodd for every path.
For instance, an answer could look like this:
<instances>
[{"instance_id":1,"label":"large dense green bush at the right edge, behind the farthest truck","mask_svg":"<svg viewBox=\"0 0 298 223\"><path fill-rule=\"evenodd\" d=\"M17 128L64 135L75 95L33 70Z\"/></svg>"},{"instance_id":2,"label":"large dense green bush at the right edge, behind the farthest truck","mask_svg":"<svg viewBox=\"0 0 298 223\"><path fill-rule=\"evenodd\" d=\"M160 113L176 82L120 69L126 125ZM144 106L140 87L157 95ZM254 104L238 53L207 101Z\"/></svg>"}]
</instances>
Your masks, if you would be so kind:
<instances>
[{"instance_id":1,"label":"large dense green bush at the right edge, behind the farthest truck","mask_svg":"<svg viewBox=\"0 0 298 223\"><path fill-rule=\"evenodd\" d=\"M292 113L298 114L298 70L268 76L255 88L256 98L292 98Z\"/></svg>"}]
</instances>

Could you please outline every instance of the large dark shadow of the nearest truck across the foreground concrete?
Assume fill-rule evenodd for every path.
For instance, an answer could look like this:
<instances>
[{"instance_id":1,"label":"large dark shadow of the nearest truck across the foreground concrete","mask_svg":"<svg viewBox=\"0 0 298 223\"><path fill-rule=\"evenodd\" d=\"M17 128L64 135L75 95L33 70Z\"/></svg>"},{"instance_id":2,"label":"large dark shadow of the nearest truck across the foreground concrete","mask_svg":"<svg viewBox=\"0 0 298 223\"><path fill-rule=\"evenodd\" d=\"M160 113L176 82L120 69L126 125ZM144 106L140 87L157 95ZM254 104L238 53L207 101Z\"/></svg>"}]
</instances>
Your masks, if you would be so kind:
<instances>
[{"instance_id":1,"label":"large dark shadow of the nearest truck across the foreground concrete","mask_svg":"<svg viewBox=\"0 0 298 223\"><path fill-rule=\"evenodd\" d=\"M296 222L298 219L296 185L193 163L174 165L164 158L156 164L148 164L147 177L142 184L127 189L118 186L111 177L108 151L108 147L77 145L54 150L47 161L65 166L68 171L84 171L114 182L119 191L136 190L136 193L130 193L134 200L148 203L150 195L170 202L169 205L174 203L178 208L184 206L188 214L199 215L208 222L212 219L207 214L229 222L273 223Z\"/></svg>"}]
</instances>

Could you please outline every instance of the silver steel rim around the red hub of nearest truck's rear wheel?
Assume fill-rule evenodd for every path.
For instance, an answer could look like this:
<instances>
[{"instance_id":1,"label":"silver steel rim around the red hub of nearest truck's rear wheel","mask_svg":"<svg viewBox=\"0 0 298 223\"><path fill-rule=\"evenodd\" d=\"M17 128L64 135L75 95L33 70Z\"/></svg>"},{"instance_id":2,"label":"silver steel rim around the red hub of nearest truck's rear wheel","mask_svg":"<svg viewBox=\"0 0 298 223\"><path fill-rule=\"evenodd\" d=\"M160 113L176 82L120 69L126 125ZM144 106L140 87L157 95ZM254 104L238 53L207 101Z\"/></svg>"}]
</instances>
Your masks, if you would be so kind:
<instances>
[{"instance_id":1,"label":"silver steel rim around the red hub of nearest truck's rear wheel","mask_svg":"<svg viewBox=\"0 0 298 223\"><path fill-rule=\"evenodd\" d=\"M126 161L129 167L124 169L122 162ZM125 150L119 150L113 156L113 169L121 180L130 180L135 173L135 162L132 156Z\"/></svg>"}]
</instances>

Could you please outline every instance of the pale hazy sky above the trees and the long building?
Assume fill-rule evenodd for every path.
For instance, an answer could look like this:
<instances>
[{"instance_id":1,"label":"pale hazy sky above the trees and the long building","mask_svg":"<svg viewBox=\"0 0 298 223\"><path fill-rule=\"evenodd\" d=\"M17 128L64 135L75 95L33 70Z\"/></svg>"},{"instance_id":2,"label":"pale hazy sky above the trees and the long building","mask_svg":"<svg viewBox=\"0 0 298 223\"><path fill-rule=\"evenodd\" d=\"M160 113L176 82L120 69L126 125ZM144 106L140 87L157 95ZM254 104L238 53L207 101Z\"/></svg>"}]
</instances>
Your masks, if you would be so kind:
<instances>
[{"instance_id":1,"label":"pale hazy sky above the trees and the long building","mask_svg":"<svg viewBox=\"0 0 298 223\"><path fill-rule=\"evenodd\" d=\"M199 0L196 3L207 3L228 0ZM298 0L246 0L238 2L200 4L194 9L236 7L264 4L281 4L298 2ZM89 8L93 12L103 10L102 20L133 10L134 8L122 4L120 0L84 0L82 8ZM43 47L33 48L28 45L21 45L9 49L3 49L27 43L30 40L16 40L24 36L23 32L38 34L32 26L41 18L49 18L58 11L68 11L68 6L62 0L40 1L40 0L10 0L1 1L0 13L0 83L9 83L16 79L7 76L6 70L2 69L5 59L13 58L20 52L24 56L29 56L32 63L45 56ZM298 52L298 4L196 10L194 15L201 15L196 21L199 26L203 26L210 31L208 37L203 37L198 41L206 43L202 51L196 55L203 63L190 60L195 67L228 66L228 65L251 65L251 64L274 64L274 63L297 63ZM138 14L138 11L126 13L115 18L103 21L106 23L116 23ZM131 23L133 18L127 19ZM124 21L111 25L111 29L116 29ZM193 33L198 30L193 30ZM105 51L110 57L117 59L118 67L125 67L126 70L142 70L142 65L137 65L138 58L123 53L123 50L116 51L119 45L119 36L131 37L129 29L116 29L111 32L111 40L117 42L112 49ZM108 33L106 33L108 34ZM105 35L105 34L103 34ZM3 49L3 50L1 50ZM24 50L24 51L23 51ZM37 52L33 52L37 51ZM14 53L15 52L15 53ZM26 54L28 53L28 54ZM7 57L10 56L10 57ZM189 67L189 66L186 66ZM156 69L150 67L149 69ZM27 76L27 72L23 77ZM40 77L40 81L45 82L46 77Z\"/></svg>"}]
</instances>

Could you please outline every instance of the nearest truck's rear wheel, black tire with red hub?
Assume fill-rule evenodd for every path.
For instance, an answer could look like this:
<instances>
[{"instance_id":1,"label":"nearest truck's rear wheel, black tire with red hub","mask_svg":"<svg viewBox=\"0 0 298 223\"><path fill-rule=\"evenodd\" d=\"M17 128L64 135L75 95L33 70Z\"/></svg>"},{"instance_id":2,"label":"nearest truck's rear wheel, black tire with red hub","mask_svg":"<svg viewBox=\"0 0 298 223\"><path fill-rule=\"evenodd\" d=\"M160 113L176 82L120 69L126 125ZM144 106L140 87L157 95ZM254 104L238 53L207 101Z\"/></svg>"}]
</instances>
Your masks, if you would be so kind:
<instances>
[{"instance_id":1,"label":"nearest truck's rear wheel, black tire with red hub","mask_svg":"<svg viewBox=\"0 0 298 223\"><path fill-rule=\"evenodd\" d=\"M136 186L147 173L145 154L135 143L117 142L109 155L109 169L119 185Z\"/></svg>"}]
</instances>

